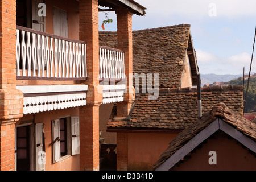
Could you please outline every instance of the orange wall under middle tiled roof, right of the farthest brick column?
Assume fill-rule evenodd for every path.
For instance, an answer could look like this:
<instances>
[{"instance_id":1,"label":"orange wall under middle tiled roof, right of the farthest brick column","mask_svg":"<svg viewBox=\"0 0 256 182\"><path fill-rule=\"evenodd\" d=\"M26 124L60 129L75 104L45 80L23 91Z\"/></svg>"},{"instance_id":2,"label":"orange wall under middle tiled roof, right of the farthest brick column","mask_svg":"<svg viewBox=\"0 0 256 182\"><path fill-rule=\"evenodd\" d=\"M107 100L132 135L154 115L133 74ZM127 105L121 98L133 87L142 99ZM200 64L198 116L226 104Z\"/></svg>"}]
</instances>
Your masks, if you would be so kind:
<instances>
[{"instance_id":1,"label":"orange wall under middle tiled roof, right of the farthest brick column","mask_svg":"<svg viewBox=\"0 0 256 182\"><path fill-rule=\"evenodd\" d=\"M177 134L128 133L128 170L148 170Z\"/></svg>"}]
</instances>

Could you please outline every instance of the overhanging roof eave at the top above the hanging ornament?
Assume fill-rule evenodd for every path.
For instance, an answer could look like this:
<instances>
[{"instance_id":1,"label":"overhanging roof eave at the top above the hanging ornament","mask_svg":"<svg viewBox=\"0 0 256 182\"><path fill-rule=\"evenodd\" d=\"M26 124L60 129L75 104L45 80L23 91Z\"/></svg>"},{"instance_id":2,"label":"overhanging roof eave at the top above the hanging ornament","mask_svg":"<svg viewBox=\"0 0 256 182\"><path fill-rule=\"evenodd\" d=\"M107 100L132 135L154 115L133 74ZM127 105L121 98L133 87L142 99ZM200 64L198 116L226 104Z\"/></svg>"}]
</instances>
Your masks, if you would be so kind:
<instances>
[{"instance_id":1,"label":"overhanging roof eave at the top above the hanging ornament","mask_svg":"<svg viewBox=\"0 0 256 182\"><path fill-rule=\"evenodd\" d=\"M146 7L143 7L134 0L99 0L98 5L102 7L109 7L113 11L118 7L128 7L133 11L133 14L141 16L146 14Z\"/></svg>"}]
</instances>

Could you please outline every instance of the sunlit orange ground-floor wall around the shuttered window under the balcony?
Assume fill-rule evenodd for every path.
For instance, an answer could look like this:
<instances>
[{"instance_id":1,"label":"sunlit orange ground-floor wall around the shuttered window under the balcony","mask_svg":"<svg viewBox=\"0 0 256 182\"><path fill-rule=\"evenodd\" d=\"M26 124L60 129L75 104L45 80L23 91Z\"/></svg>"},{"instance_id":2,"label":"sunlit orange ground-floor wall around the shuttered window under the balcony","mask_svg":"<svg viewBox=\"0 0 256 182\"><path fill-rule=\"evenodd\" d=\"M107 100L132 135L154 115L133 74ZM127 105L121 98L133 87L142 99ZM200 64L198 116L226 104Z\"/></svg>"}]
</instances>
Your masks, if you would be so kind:
<instances>
[{"instance_id":1,"label":"sunlit orange ground-floor wall around the shuttered window under the balcony","mask_svg":"<svg viewBox=\"0 0 256 182\"><path fill-rule=\"evenodd\" d=\"M79 107L73 107L69 109L46 111L43 113L35 114L35 123L44 123L44 136L45 136L45 147L46 147L46 171L71 171L80 170L80 159L79 155L68 156L68 158L61 160L57 163L52 163L52 126L51 121L59 117L65 116L79 116ZM33 119L33 114L23 115L16 125L20 122L28 121Z\"/></svg>"}]
</instances>

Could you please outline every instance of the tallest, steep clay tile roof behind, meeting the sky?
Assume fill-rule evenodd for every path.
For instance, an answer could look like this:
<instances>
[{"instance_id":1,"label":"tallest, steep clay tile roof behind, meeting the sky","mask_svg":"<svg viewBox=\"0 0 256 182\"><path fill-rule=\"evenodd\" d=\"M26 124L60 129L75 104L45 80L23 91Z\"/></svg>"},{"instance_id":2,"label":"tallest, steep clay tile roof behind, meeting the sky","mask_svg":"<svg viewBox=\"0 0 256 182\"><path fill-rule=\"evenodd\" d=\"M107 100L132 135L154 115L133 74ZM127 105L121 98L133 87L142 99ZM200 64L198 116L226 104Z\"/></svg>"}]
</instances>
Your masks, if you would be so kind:
<instances>
[{"instance_id":1,"label":"tallest, steep clay tile roof behind, meeting the sky","mask_svg":"<svg viewBox=\"0 0 256 182\"><path fill-rule=\"evenodd\" d=\"M99 40L100 46L117 48L116 32L100 32ZM177 88L187 50L193 52L189 24L133 31L133 73L158 73L159 88ZM189 53L189 61L196 85L198 67L194 53Z\"/></svg>"}]
</instances>

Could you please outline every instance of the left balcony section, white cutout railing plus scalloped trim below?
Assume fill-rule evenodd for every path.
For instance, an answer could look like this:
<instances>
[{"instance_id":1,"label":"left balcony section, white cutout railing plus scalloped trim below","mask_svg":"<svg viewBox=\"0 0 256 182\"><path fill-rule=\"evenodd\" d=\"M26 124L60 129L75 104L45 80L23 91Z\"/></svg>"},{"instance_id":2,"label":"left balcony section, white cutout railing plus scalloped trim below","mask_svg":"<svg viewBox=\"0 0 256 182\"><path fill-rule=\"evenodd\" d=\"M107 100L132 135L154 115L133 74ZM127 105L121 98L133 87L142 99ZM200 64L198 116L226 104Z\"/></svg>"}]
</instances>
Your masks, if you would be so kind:
<instances>
[{"instance_id":1,"label":"left balcony section, white cutout railing plus scalloped trim below","mask_svg":"<svg viewBox=\"0 0 256 182\"><path fill-rule=\"evenodd\" d=\"M86 42L17 26L17 80L86 80ZM86 105L87 85L17 85L23 114Z\"/></svg>"}]
</instances>

